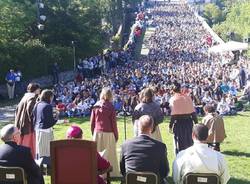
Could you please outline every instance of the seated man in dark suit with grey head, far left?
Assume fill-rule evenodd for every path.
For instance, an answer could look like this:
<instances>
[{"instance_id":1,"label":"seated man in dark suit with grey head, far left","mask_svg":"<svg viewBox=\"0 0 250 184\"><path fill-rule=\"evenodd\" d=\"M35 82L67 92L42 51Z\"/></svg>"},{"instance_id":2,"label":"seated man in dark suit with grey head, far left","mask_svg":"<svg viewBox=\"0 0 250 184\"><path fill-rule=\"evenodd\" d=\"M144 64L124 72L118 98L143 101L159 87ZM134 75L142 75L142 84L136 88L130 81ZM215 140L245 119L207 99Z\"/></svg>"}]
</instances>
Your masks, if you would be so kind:
<instances>
[{"instance_id":1,"label":"seated man in dark suit with grey head, far left","mask_svg":"<svg viewBox=\"0 0 250 184\"><path fill-rule=\"evenodd\" d=\"M0 165L9 167L21 167L27 174L28 184L43 184L44 180L39 167L31 155L30 148L17 145L20 139L19 130L8 124L1 129Z\"/></svg>"}]
</instances>

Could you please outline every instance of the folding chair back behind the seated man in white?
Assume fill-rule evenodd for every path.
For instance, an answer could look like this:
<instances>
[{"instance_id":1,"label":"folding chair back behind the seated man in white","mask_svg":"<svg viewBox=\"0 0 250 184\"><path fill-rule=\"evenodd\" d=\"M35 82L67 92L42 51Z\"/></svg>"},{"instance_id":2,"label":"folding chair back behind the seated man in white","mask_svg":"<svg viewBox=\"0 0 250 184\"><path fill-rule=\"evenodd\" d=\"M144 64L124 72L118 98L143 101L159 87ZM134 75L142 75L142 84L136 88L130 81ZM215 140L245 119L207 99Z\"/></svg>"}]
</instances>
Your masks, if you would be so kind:
<instances>
[{"instance_id":1,"label":"folding chair back behind the seated man in white","mask_svg":"<svg viewBox=\"0 0 250 184\"><path fill-rule=\"evenodd\" d=\"M220 178L213 173L187 173L184 184L220 184Z\"/></svg>"}]
</instances>

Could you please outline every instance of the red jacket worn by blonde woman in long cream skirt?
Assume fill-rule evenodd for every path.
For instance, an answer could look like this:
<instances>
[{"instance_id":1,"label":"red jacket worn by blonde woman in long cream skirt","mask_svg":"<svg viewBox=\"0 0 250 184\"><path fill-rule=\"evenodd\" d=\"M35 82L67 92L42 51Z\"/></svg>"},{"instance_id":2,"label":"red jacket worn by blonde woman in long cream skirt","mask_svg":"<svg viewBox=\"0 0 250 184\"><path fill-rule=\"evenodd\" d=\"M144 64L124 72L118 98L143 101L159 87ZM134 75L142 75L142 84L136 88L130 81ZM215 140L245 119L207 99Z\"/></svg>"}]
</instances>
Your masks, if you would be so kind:
<instances>
[{"instance_id":1,"label":"red jacket worn by blonde woman in long cream skirt","mask_svg":"<svg viewBox=\"0 0 250 184\"><path fill-rule=\"evenodd\" d=\"M113 104L109 101L98 101L90 117L92 134L95 132L113 132L118 140L118 130L116 124L116 112Z\"/></svg>"}]
</instances>

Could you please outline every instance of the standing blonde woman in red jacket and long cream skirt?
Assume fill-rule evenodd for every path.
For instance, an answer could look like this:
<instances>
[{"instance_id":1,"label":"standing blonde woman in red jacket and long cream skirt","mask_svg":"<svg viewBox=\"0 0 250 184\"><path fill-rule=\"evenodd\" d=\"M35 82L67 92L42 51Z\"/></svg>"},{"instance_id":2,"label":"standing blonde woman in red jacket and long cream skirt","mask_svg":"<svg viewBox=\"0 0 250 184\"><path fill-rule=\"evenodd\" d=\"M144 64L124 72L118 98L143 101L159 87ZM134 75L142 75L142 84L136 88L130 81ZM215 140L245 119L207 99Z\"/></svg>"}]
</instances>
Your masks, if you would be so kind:
<instances>
[{"instance_id":1,"label":"standing blonde woman in red jacket and long cream skirt","mask_svg":"<svg viewBox=\"0 0 250 184\"><path fill-rule=\"evenodd\" d=\"M119 176L116 142L118 130L116 124L116 112L112 104L112 91L103 88L100 100L94 105L90 122L93 140L97 143L97 151L104 151L103 158L108 160L113 167L111 176Z\"/></svg>"}]
</instances>

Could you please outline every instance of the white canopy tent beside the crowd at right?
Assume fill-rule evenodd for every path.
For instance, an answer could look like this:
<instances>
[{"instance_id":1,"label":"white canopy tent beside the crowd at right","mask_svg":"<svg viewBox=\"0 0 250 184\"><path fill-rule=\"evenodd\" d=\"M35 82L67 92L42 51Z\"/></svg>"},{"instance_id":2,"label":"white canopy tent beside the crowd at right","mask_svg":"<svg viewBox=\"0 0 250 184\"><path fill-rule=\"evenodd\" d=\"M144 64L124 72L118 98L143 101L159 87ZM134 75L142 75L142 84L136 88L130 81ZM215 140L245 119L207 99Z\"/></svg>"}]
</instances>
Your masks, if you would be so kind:
<instances>
[{"instance_id":1,"label":"white canopy tent beside the crowd at right","mask_svg":"<svg viewBox=\"0 0 250 184\"><path fill-rule=\"evenodd\" d=\"M213 53L222 53L222 52L231 52L237 50L247 50L248 44L236 41L229 41L227 43L221 43L219 45L213 46L209 49L209 52Z\"/></svg>"}]
</instances>

